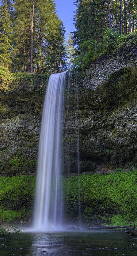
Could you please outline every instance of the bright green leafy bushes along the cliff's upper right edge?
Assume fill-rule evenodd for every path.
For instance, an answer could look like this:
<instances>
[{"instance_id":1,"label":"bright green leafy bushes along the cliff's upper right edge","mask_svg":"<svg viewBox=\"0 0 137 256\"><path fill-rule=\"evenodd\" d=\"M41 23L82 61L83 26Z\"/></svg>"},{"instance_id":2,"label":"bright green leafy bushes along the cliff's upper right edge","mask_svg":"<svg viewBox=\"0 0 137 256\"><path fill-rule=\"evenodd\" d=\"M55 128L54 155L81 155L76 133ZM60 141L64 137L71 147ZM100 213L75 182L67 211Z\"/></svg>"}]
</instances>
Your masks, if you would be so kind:
<instances>
[{"instance_id":1,"label":"bright green leafy bushes along the cliff's upper right edge","mask_svg":"<svg viewBox=\"0 0 137 256\"><path fill-rule=\"evenodd\" d=\"M129 47L132 42L136 44L135 33L120 36L113 29L107 29L101 41L96 42L91 39L80 44L75 64L85 68L102 54L110 55L119 50L123 45Z\"/></svg>"}]
</instances>

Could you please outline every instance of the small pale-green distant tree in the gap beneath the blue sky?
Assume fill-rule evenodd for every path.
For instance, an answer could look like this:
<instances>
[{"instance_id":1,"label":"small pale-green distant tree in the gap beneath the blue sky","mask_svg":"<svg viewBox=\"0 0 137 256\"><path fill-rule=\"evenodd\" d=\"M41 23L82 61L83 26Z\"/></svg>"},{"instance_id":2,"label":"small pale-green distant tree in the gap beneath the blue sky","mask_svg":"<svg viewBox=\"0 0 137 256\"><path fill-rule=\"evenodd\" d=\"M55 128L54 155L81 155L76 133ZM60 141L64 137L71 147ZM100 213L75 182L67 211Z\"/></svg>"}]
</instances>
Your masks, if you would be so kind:
<instances>
[{"instance_id":1,"label":"small pale-green distant tree in the gap beneath the blue sky","mask_svg":"<svg viewBox=\"0 0 137 256\"><path fill-rule=\"evenodd\" d=\"M68 67L69 69L72 69L76 53L72 33L69 34L68 41L66 41L66 52L68 58Z\"/></svg>"}]
</instances>

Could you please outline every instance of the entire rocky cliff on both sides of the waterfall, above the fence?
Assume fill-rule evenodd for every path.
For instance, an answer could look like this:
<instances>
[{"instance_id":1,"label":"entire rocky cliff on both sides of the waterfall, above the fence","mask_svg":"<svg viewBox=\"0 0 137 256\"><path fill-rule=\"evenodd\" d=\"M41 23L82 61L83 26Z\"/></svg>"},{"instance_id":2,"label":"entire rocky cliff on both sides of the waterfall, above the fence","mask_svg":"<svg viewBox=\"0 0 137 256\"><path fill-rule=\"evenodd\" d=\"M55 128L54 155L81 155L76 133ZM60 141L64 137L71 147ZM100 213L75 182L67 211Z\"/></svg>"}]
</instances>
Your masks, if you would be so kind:
<instances>
[{"instance_id":1,"label":"entire rocky cliff on both sides of the waterfall, above the fence","mask_svg":"<svg viewBox=\"0 0 137 256\"><path fill-rule=\"evenodd\" d=\"M72 79L69 120L67 96L65 98L65 170L69 166L72 172L77 172L76 108L81 171L135 166L134 53L133 39L130 39L113 56L101 56L85 71L79 71L77 106L73 101L75 83ZM33 86L29 77L19 78L8 92L0 94L1 173L35 172L47 81L38 82L35 77L31 83ZM69 158L66 157L68 148Z\"/></svg>"}]
</instances>

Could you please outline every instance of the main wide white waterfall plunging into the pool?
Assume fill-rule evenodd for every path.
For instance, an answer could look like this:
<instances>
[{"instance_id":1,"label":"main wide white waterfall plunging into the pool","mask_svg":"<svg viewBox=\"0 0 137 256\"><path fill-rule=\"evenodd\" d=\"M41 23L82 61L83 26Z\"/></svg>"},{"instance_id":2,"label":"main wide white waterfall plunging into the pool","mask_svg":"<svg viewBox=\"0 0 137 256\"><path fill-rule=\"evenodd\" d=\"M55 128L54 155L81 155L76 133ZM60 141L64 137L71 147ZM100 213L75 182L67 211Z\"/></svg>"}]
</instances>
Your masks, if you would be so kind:
<instances>
[{"instance_id":1,"label":"main wide white waterfall plunging into the pool","mask_svg":"<svg viewBox=\"0 0 137 256\"><path fill-rule=\"evenodd\" d=\"M66 72L50 75L43 106L34 207L35 231L62 228L62 115Z\"/></svg>"}]
</instances>

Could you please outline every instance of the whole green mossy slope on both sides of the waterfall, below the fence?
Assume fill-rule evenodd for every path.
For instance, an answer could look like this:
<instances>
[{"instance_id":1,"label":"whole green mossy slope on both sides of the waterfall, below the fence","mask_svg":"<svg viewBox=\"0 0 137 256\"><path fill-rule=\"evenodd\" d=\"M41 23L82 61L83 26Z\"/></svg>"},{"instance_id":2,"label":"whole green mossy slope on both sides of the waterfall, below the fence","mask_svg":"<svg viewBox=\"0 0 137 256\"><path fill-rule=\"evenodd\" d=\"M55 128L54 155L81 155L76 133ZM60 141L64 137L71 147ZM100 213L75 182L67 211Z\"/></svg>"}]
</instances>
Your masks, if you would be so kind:
<instances>
[{"instance_id":1,"label":"whole green mossy slope on both sides of the waterfall, below the fence","mask_svg":"<svg viewBox=\"0 0 137 256\"><path fill-rule=\"evenodd\" d=\"M77 219L78 177L63 179L65 211ZM137 216L136 172L80 176L83 221L126 225ZM1 221L26 221L32 214L35 176L0 178Z\"/></svg>"}]
</instances>

